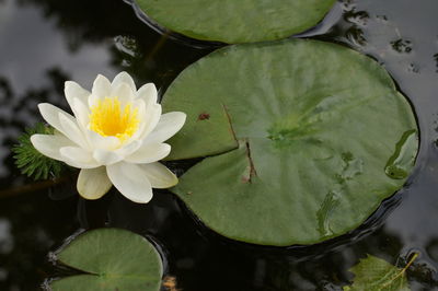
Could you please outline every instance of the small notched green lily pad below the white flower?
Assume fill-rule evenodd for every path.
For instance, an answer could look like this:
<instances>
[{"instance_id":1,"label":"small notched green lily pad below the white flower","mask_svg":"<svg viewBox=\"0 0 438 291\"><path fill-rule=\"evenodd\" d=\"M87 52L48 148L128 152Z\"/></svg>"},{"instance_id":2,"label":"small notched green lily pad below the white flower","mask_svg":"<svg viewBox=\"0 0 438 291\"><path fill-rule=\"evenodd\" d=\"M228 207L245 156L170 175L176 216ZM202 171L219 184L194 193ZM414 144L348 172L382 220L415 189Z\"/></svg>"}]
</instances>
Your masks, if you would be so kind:
<instances>
[{"instance_id":1,"label":"small notched green lily pad below the white flower","mask_svg":"<svg viewBox=\"0 0 438 291\"><path fill-rule=\"evenodd\" d=\"M163 267L160 255L145 237L117 229L79 235L58 259L87 273L50 282L51 290L158 291Z\"/></svg>"}]
</instances>

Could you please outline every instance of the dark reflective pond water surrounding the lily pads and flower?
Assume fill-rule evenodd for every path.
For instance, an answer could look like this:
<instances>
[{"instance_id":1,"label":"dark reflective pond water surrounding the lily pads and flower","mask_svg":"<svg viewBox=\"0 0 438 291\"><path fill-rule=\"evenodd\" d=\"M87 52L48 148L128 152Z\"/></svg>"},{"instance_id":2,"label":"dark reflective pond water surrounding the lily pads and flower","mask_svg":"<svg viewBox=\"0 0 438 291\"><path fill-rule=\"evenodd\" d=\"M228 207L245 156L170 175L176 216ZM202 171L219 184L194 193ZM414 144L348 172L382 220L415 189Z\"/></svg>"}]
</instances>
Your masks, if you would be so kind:
<instances>
[{"instance_id":1,"label":"dark reflective pond water surrounding the lily pads and flower","mask_svg":"<svg viewBox=\"0 0 438 291\"><path fill-rule=\"evenodd\" d=\"M215 234L169 191L146 206L114 193L85 201L74 194L76 177L54 185L21 176L10 148L41 120L37 103L67 108L65 80L91 88L97 73L126 70L162 93L215 47L161 35L122 0L0 0L0 290L36 290L68 272L53 266L50 252L78 230L105 225L151 237L186 291L341 290L367 254L404 266L414 252L411 288L438 290L437 14L436 0L346 0L300 36L344 44L384 66L415 108L420 151L406 186L359 230L316 246L274 248Z\"/></svg>"}]
</instances>

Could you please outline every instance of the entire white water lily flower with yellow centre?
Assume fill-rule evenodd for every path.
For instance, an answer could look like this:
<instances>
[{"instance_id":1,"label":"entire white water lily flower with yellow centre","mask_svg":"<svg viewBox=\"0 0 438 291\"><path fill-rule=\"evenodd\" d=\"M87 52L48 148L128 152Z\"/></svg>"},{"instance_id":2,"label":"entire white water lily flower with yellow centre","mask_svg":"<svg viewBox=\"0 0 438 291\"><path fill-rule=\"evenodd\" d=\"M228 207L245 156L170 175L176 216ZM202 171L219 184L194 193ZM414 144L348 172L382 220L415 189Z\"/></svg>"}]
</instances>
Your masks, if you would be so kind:
<instances>
[{"instance_id":1,"label":"entire white water lily flower with yellow centre","mask_svg":"<svg viewBox=\"0 0 438 291\"><path fill-rule=\"evenodd\" d=\"M180 112L161 114L152 83L139 90L126 72L113 82L97 75L91 92L66 82L65 94L74 117L47 103L38 105L55 135L33 135L41 153L81 168L78 191L99 199L114 185L126 198L147 203L153 188L177 184L176 176L158 161L169 155L165 140L184 125Z\"/></svg>"}]
</instances>

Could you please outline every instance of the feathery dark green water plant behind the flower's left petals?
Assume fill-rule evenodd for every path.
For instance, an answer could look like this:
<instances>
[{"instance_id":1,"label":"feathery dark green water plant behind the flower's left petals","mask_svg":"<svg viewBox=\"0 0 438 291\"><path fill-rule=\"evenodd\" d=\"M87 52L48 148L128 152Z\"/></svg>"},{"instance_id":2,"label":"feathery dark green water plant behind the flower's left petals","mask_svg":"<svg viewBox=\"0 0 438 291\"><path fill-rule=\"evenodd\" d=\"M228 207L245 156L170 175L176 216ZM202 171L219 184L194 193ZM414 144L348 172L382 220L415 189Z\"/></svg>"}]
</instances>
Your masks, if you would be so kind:
<instances>
[{"instance_id":1,"label":"feathery dark green water plant behind the flower's left petals","mask_svg":"<svg viewBox=\"0 0 438 291\"><path fill-rule=\"evenodd\" d=\"M18 139L18 144L12 147L15 165L21 173L36 179L47 179L49 176L59 177L65 164L45 156L38 152L31 142L32 135L53 135L54 129L37 123L34 128L26 128Z\"/></svg>"}]
</instances>

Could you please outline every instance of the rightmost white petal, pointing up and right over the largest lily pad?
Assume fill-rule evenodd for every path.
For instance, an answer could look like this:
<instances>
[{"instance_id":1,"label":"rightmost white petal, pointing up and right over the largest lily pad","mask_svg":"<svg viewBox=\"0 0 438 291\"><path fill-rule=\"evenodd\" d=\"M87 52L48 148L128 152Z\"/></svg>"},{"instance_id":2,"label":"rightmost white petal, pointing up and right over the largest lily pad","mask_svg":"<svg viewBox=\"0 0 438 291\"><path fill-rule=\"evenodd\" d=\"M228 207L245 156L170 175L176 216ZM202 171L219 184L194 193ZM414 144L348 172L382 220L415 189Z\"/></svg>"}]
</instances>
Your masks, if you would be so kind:
<instances>
[{"instance_id":1,"label":"rightmost white petal, pointing up and right over the largest lily pad","mask_svg":"<svg viewBox=\"0 0 438 291\"><path fill-rule=\"evenodd\" d=\"M163 142L173 137L184 126L185 113L172 112L161 115L157 127L146 137L146 143Z\"/></svg>"}]
</instances>

